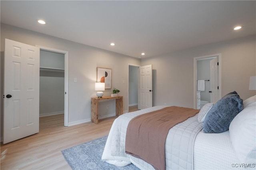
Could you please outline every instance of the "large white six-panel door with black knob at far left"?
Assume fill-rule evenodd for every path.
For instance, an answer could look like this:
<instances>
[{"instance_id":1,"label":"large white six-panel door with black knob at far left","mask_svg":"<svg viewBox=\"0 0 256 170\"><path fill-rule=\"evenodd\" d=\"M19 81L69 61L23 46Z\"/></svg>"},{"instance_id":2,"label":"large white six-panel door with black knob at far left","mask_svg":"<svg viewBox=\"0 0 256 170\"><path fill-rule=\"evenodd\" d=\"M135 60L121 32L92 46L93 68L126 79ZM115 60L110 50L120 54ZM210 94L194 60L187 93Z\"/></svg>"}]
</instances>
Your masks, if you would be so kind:
<instances>
[{"instance_id":1,"label":"large white six-panel door with black knob at far left","mask_svg":"<svg viewBox=\"0 0 256 170\"><path fill-rule=\"evenodd\" d=\"M3 143L39 132L38 47L5 39Z\"/></svg>"}]
</instances>

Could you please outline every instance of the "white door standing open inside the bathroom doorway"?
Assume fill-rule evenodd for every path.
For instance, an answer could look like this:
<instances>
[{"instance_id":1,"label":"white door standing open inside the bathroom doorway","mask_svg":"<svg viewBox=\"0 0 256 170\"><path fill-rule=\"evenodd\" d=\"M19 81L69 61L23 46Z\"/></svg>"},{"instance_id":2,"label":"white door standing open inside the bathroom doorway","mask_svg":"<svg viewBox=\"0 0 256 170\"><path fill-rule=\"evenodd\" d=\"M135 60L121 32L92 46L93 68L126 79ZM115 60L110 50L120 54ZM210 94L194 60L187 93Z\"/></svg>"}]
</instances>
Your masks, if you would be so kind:
<instances>
[{"instance_id":1,"label":"white door standing open inside the bathroom doorway","mask_svg":"<svg viewBox=\"0 0 256 170\"><path fill-rule=\"evenodd\" d=\"M211 103L218 101L218 59L210 61L210 96Z\"/></svg>"}]
</instances>

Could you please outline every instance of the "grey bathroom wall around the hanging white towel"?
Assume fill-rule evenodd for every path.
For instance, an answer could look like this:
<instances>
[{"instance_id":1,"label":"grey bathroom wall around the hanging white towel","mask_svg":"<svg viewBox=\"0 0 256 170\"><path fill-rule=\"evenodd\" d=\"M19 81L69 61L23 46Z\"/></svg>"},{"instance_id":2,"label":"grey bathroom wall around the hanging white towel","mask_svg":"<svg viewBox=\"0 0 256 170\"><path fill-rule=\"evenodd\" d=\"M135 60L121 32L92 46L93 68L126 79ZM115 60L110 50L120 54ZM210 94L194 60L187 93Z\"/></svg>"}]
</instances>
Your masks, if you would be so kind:
<instances>
[{"instance_id":1,"label":"grey bathroom wall around the hanging white towel","mask_svg":"<svg viewBox=\"0 0 256 170\"><path fill-rule=\"evenodd\" d=\"M197 61L197 80L210 80L210 60L212 59L204 59ZM202 101L211 101L210 96L210 81L204 82L204 91L200 92L200 98ZM202 108L202 107L201 107Z\"/></svg>"}]
</instances>

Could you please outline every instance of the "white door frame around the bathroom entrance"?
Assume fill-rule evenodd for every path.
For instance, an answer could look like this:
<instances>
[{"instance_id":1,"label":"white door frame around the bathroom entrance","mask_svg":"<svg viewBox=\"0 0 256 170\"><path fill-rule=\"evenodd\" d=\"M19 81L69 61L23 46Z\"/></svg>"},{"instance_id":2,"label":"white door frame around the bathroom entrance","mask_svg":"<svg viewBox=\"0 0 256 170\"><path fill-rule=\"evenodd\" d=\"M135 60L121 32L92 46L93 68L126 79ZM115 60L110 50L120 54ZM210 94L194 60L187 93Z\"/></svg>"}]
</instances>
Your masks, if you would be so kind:
<instances>
[{"instance_id":1,"label":"white door frame around the bathroom entrance","mask_svg":"<svg viewBox=\"0 0 256 170\"><path fill-rule=\"evenodd\" d=\"M218 54L213 54L213 55L205 55L205 56L201 56L201 57L194 57L194 97L193 97L193 101L194 101L194 109L196 109L196 92L197 92L197 61L198 60L204 60L204 59L211 59L211 58L218 58L218 100L220 100L221 98L221 53Z\"/></svg>"}]
</instances>

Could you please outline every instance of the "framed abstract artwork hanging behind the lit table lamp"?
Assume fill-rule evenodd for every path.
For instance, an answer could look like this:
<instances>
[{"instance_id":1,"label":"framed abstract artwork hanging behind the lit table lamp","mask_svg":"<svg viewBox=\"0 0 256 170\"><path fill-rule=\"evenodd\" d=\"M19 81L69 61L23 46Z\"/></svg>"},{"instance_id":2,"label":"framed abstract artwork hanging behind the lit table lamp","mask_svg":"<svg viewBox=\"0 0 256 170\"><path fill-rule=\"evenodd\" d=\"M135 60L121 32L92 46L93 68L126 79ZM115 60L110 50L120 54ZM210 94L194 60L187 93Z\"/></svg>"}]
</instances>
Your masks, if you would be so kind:
<instances>
[{"instance_id":1,"label":"framed abstract artwork hanging behind the lit table lamp","mask_svg":"<svg viewBox=\"0 0 256 170\"><path fill-rule=\"evenodd\" d=\"M97 67L97 82L105 83L105 89L111 89L111 68Z\"/></svg>"}]
</instances>

